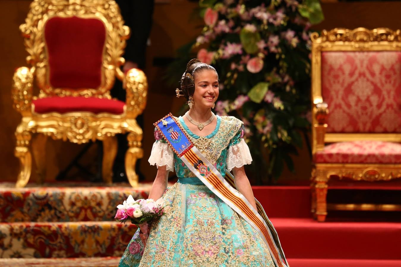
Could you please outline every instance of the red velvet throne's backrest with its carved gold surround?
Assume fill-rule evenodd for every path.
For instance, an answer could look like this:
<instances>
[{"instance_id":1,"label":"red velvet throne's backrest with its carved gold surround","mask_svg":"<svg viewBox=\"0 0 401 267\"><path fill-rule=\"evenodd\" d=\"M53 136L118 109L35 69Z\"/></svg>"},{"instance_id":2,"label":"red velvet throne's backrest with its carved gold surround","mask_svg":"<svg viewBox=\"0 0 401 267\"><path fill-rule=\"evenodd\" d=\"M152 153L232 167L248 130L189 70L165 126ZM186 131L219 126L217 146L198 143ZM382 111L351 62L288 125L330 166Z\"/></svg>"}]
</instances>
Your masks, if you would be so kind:
<instances>
[{"instance_id":1,"label":"red velvet throne's backrest with its carved gold surround","mask_svg":"<svg viewBox=\"0 0 401 267\"><path fill-rule=\"evenodd\" d=\"M130 28L114 0L33 0L20 30L28 63L49 96L111 98L115 77L124 78Z\"/></svg>"}]
</instances>

